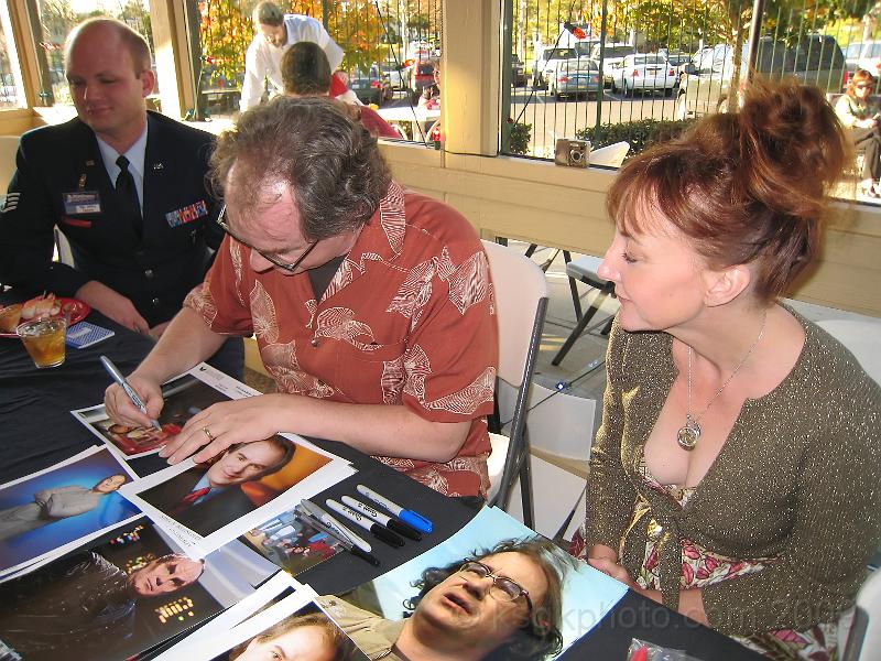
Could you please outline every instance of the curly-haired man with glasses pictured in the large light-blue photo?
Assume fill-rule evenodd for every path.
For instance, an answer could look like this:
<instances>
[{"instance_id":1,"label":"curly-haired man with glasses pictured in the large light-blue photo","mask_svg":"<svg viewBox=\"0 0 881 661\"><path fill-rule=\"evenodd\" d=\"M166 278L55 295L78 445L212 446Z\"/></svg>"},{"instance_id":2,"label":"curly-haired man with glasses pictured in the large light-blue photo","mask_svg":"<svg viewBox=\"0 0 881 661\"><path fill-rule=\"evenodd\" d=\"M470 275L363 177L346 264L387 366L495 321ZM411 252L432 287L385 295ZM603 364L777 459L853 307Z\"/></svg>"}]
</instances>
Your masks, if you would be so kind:
<instances>
[{"instance_id":1,"label":"curly-haired man with glasses pictured in the large light-blue photo","mask_svg":"<svg viewBox=\"0 0 881 661\"><path fill-rule=\"evenodd\" d=\"M552 542L508 540L445 567L431 567L401 620L341 598L317 603L371 659L518 661L559 653L562 584L569 559Z\"/></svg>"}]
</instances>

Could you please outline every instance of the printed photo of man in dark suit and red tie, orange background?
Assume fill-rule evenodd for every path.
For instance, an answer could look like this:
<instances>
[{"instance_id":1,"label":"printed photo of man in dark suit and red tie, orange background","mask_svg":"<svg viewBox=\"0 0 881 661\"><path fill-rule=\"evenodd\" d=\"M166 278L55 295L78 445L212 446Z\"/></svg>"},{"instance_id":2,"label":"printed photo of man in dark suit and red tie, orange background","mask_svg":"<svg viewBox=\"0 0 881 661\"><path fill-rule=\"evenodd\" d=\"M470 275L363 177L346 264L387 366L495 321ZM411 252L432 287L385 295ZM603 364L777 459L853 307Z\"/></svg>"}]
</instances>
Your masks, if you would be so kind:
<instances>
[{"instance_id":1,"label":"printed photo of man in dark suit and red tie, orange background","mask_svg":"<svg viewBox=\"0 0 881 661\"><path fill-rule=\"evenodd\" d=\"M229 446L138 497L207 537L267 505L330 459L281 436ZM135 487L137 488L137 487Z\"/></svg>"}]
</instances>

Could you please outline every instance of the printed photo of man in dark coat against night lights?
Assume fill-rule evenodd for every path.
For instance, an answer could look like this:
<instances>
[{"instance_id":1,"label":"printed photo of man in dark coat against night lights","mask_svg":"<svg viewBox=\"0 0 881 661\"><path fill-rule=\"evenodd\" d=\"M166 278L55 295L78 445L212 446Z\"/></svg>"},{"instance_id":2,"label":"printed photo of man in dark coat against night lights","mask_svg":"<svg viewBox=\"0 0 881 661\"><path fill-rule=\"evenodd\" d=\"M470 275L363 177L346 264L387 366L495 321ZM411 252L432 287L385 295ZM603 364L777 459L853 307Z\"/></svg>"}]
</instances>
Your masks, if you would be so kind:
<instances>
[{"instance_id":1,"label":"printed photo of man in dark coat against night lights","mask_svg":"<svg viewBox=\"0 0 881 661\"><path fill-rule=\"evenodd\" d=\"M227 551L227 550L225 550ZM0 649L10 659L123 660L253 592L230 572L253 552L235 543L193 560L146 519L0 584ZM13 655L18 654L18 657Z\"/></svg>"}]
</instances>

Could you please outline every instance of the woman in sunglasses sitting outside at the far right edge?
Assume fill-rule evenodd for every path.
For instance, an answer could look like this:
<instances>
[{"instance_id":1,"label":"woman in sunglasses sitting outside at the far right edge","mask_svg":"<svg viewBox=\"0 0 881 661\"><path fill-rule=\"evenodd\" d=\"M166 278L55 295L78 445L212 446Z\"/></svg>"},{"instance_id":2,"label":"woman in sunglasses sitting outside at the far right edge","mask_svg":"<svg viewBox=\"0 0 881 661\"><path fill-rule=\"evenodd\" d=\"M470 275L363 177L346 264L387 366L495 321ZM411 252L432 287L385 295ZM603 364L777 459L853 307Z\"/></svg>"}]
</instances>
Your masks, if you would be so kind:
<instances>
[{"instance_id":1,"label":"woman in sunglasses sitting outside at the far right edge","mask_svg":"<svg viewBox=\"0 0 881 661\"><path fill-rule=\"evenodd\" d=\"M878 106L871 101L874 78L866 69L857 69L847 83L847 90L835 104L835 113L849 130L855 147L864 153L860 193L871 198L881 197L881 128L878 126Z\"/></svg>"}]
</instances>

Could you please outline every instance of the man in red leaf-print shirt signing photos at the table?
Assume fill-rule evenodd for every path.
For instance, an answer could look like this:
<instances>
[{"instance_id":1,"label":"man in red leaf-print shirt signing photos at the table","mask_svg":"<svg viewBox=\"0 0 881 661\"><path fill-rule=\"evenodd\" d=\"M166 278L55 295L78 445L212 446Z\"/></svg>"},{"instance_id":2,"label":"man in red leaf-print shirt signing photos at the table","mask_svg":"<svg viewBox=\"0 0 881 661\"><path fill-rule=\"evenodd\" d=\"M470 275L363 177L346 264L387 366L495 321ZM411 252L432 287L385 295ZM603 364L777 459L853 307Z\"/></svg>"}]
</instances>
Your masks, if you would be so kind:
<instances>
[{"instance_id":1,"label":"man in red leaf-print shirt signing photos at the table","mask_svg":"<svg viewBox=\"0 0 881 661\"><path fill-rule=\"evenodd\" d=\"M196 413L160 453L203 462L280 430L333 438L450 496L485 495L498 361L492 284L461 215L391 180L331 99L279 97L218 140L228 236L130 382L160 384L225 334L255 333L278 393ZM119 388L109 415L146 424Z\"/></svg>"}]
</instances>

